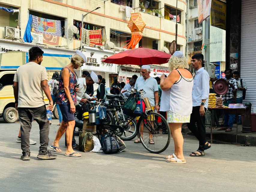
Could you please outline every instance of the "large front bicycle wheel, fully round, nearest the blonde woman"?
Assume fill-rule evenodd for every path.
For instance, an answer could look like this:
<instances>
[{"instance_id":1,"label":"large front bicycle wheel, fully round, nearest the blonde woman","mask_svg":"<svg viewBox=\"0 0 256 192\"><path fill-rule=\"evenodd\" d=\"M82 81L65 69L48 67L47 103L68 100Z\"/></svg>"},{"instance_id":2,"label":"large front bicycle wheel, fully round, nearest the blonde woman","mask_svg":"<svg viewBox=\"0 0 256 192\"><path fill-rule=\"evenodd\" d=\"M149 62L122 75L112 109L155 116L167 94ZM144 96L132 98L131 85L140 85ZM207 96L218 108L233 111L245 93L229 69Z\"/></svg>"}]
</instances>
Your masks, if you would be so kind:
<instances>
[{"instance_id":1,"label":"large front bicycle wheel, fully round, nearest the blonde woman","mask_svg":"<svg viewBox=\"0 0 256 192\"><path fill-rule=\"evenodd\" d=\"M161 153L169 146L170 127L166 119L159 113L149 112L148 116L141 116L137 127L141 143L149 152ZM150 144L152 143L150 140L153 140L154 144Z\"/></svg>"}]
</instances>

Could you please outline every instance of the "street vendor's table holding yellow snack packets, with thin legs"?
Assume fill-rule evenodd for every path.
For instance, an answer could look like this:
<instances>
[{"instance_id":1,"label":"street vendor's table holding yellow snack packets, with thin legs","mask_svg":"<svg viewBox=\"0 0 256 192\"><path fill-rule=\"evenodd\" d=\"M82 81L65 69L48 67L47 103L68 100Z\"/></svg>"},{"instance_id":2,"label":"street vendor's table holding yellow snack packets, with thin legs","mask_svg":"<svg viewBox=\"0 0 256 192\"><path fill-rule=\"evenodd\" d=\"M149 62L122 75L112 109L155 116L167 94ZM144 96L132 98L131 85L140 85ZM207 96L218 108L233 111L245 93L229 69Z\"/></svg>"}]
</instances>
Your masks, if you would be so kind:
<instances>
[{"instance_id":1,"label":"street vendor's table holding yellow snack packets, with thin legs","mask_svg":"<svg viewBox=\"0 0 256 192\"><path fill-rule=\"evenodd\" d=\"M208 110L211 112L211 143L212 143L212 111L213 110L223 110L225 114L235 114L236 115L236 143L237 143L237 121L238 121L238 115L244 115L247 107L245 108L208 108ZM214 128L221 128L221 127L214 127Z\"/></svg>"}]
</instances>

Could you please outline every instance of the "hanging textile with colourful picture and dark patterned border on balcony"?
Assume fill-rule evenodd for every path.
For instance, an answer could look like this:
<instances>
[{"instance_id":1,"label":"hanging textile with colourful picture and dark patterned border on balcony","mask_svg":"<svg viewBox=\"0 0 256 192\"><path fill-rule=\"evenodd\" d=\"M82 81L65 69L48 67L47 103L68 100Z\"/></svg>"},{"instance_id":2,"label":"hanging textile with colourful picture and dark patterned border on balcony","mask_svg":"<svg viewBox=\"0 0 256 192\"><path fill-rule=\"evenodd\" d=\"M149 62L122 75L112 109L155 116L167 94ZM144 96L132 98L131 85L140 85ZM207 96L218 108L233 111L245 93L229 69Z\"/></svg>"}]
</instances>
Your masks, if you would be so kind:
<instances>
[{"instance_id":1,"label":"hanging textile with colourful picture and dark patterned border on balcony","mask_svg":"<svg viewBox=\"0 0 256 192\"><path fill-rule=\"evenodd\" d=\"M32 25L35 32L62 36L61 22L59 20L45 19L32 15Z\"/></svg>"}]
</instances>

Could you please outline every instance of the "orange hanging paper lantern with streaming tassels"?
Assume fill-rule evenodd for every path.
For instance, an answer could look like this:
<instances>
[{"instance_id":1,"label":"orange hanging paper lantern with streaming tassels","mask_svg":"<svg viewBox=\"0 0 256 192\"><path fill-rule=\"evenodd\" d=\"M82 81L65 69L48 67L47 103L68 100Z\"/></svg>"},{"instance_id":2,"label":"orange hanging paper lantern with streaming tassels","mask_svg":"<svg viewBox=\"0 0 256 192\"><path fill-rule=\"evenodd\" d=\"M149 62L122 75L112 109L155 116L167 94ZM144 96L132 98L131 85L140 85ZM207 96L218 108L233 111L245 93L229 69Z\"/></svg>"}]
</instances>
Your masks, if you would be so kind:
<instances>
[{"instance_id":1,"label":"orange hanging paper lantern with streaming tassels","mask_svg":"<svg viewBox=\"0 0 256 192\"><path fill-rule=\"evenodd\" d=\"M142 38L142 32L146 24L141 19L140 13L131 13L131 19L127 25L131 30L131 40L126 45L127 49L134 49Z\"/></svg>"}]
</instances>

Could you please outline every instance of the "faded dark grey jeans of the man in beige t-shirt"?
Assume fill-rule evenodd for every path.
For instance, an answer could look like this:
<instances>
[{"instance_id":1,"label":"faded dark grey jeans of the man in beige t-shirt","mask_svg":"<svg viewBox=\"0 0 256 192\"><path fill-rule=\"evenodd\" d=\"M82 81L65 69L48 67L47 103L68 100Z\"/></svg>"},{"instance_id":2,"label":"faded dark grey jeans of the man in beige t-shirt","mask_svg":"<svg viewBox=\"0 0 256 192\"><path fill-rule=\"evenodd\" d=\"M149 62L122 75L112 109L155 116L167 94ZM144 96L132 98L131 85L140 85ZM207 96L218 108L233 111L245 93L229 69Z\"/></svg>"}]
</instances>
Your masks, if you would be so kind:
<instances>
[{"instance_id":1,"label":"faded dark grey jeans of the man in beige t-shirt","mask_svg":"<svg viewBox=\"0 0 256 192\"><path fill-rule=\"evenodd\" d=\"M40 129L40 147L39 151L44 153L49 143L49 120L46 117L45 105L35 108L18 108L21 131L21 149L22 153L30 153L29 134L31 130L32 118L38 123Z\"/></svg>"}]
</instances>

